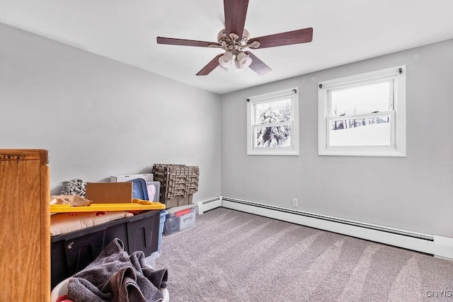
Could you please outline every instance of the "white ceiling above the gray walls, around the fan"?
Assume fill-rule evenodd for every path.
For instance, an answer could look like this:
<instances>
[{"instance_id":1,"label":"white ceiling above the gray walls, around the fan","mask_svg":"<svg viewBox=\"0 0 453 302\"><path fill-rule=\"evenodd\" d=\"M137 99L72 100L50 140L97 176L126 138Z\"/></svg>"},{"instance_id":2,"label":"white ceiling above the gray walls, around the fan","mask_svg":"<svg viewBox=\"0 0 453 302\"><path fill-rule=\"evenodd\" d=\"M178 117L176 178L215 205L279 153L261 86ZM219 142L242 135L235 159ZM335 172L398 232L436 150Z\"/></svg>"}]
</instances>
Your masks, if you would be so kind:
<instances>
[{"instance_id":1,"label":"white ceiling above the gray walls, around the fan","mask_svg":"<svg viewBox=\"0 0 453 302\"><path fill-rule=\"evenodd\" d=\"M0 0L1 23L219 94L450 39L452 11L452 0L250 0L251 37L312 27L313 41L253 50L273 69L264 76L195 76L222 50L156 37L217 42L222 0Z\"/></svg>"}]
</instances>

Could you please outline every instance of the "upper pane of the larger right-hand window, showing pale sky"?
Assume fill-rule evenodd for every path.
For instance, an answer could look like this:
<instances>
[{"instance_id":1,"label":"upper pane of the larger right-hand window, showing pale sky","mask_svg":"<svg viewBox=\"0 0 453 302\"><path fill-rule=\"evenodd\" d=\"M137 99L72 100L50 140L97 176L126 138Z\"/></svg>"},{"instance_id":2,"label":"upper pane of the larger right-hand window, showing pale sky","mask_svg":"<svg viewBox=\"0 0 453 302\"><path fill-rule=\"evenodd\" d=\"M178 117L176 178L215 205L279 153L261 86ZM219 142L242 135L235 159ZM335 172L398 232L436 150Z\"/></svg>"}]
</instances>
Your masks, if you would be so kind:
<instances>
[{"instance_id":1,"label":"upper pane of the larger right-hand window, showing pale sky","mask_svg":"<svg viewBox=\"0 0 453 302\"><path fill-rule=\"evenodd\" d=\"M390 82L386 81L332 91L331 116L389 111L390 88Z\"/></svg>"}]
</instances>

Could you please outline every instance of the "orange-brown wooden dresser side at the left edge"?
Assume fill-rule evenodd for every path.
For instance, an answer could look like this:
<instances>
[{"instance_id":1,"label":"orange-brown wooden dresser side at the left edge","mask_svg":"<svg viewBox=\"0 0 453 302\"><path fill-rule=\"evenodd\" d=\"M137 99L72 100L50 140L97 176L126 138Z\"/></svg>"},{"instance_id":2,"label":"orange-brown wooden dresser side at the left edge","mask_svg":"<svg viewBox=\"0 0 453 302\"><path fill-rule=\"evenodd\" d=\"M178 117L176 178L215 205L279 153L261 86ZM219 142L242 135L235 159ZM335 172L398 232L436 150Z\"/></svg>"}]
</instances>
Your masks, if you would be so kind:
<instances>
[{"instance_id":1,"label":"orange-brown wooden dresser side at the left edge","mask_svg":"<svg viewBox=\"0 0 453 302\"><path fill-rule=\"evenodd\" d=\"M50 300L48 153L0 149L0 301Z\"/></svg>"}]
</instances>

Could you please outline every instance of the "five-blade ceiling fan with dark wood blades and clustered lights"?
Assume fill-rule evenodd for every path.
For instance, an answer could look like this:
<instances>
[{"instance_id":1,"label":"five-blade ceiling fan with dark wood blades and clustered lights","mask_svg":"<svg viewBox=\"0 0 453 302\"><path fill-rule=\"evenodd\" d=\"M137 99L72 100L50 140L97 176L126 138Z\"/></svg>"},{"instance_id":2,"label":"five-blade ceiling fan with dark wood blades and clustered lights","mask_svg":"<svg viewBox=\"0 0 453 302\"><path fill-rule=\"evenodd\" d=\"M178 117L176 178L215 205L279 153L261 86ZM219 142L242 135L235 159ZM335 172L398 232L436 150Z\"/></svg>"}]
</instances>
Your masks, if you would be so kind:
<instances>
[{"instance_id":1,"label":"five-blade ceiling fan with dark wood blades and clustered lights","mask_svg":"<svg viewBox=\"0 0 453 302\"><path fill-rule=\"evenodd\" d=\"M225 50L223 54L218 54L211 62L198 71L197 76L206 76L217 68L217 66L226 70L232 62L236 64L237 69L246 69L247 67L250 67L250 69L257 74L263 75L272 71L272 69L250 51L244 51L246 48L260 49L292 45L311 42L313 39L313 28L304 28L286 33L250 38L248 31L244 28L247 7L248 0L224 0L225 28L217 35L217 42L157 37L157 43L166 45L216 47Z\"/></svg>"}]
</instances>

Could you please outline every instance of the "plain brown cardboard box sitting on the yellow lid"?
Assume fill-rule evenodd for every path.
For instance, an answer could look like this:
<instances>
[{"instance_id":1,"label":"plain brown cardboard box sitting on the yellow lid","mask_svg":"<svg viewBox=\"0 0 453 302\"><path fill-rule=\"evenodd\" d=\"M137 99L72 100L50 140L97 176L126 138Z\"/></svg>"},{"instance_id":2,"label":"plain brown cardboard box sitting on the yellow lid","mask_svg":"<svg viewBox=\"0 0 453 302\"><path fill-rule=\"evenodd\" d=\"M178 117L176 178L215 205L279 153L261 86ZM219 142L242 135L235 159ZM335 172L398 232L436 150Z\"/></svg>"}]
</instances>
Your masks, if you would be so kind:
<instances>
[{"instance_id":1,"label":"plain brown cardboard box sitting on the yellow lid","mask_svg":"<svg viewBox=\"0 0 453 302\"><path fill-rule=\"evenodd\" d=\"M94 204L132 202L132 182L87 182L85 198Z\"/></svg>"}]
</instances>

